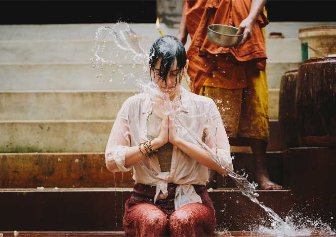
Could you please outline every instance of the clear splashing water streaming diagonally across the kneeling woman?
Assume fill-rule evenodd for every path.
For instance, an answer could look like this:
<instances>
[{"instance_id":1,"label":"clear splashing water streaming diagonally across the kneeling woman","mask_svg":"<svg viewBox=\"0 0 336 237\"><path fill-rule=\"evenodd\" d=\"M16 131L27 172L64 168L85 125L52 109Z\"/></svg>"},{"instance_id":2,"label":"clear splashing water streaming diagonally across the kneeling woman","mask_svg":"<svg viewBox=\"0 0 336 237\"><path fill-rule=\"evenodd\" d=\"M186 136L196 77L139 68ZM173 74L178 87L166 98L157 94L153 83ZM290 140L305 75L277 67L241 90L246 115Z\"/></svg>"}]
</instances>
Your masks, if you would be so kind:
<instances>
[{"instance_id":1,"label":"clear splashing water streaming diagonally across the kneeling woman","mask_svg":"<svg viewBox=\"0 0 336 237\"><path fill-rule=\"evenodd\" d=\"M96 31L94 42L95 45L92 49L91 62L92 68L97 70L99 77L102 77L101 74L103 74L103 72L100 71L104 71L105 63L110 66L112 66L112 64L115 65L113 67L113 73L115 73L115 70L117 69L118 73L123 75L123 84L126 84L126 81L134 82L139 88L142 89L142 92L148 93L152 101L160 106L162 112L166 115L169 115L170 119L175 120L176 129L183 132L184 139L198 144L201 148L203 148L213 160L215 160L226 170L240 191L265 210L272 227L266 228L264 226L258 226L257 231L272 236L310 235L317 230L320 234L336 234L327 224L324 224L319 220L310 221L306 220L306 218L302 218L305 219L305 222L299 223L297 225L294 225L294 216L286 217L285 220L282 220L271 208L266 207L263 203L258 201L258 194L255 193L257 184L254 182L250 183L245 177L227 169L221 163L221 159L218 157L216 152L216 131L218 124L213 123L210 112L205 111L203 115L193 117L194 122L191 125L191 127L203 126L204 131L208 137L207 142L203 142L202 139L197 136L197 134L193 134L191 132L193 129L190 129L190 125L188 126L187 124L183 123L184 119L181 118L186 115L180 113L181 101L177 98L175 98L173 101L170 101L168 94L162 93L160 89L156 88L155 84L152 83L149 77L150 71L148 67L148 49L150 45L147 45L147 48L144 50L140 44L139 37L129 28L126 23L118 23L113 28L100 27ZM106 52L106 43L118 47L119 50L117 54L109 53L109 51ZM124 62L127 65L131 65L130 67L125 68L125 71L129 72L128 74L124 74L122 70L123 64L121 64L121 62ZM140 70L142 73L139 73L139 70L136 71L136 66L138 65L142 65L142 70ZM112 75L110 75L110 77L112 77ZM190 84L190 77L186 75L186 79ZM184 90L184 88L182 87L181 90ZM201 120L200 118L202 116L207 116L210 118L210 122L208 124L200 125L198 121Z\"/></svg>"}]
</instances>

